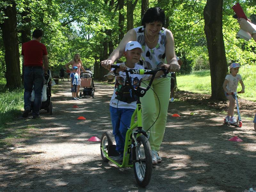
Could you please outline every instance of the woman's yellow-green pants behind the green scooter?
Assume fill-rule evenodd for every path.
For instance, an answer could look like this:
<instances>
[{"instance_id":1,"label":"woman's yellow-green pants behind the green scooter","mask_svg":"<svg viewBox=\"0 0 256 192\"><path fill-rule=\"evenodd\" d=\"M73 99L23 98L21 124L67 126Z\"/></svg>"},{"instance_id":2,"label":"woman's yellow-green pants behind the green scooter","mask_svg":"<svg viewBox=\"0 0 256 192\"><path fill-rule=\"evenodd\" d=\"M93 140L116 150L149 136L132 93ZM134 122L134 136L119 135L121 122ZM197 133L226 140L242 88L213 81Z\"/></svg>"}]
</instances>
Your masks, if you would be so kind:
<instances>
[{"instance_id":1,"label":"woman's yellow-green pants behind the green scooter","mask_svg":"<svg viewBox=\"0 0 256 192\"><path fill-rule=\"evenodd\" d=\"M148 84L148 81L144 81ZM147 87L147 85L141 83L142 87ZM156 121L156 123L149 129L149 142L152 150L159 151L160 145L163 141L164 130L167 120L167 110L170 98L170 87L171 81L170 77L161 77L159 79L154 79L151 88L149 89L144 97L140 99L142 106L142 126L144 130L148 128ZM159 100L157 99L158 96ZM156 120L159 113L159 101L160 101L160 114ZM154 132L154 133L152 133Z\"/></svg>"}]
</instances>

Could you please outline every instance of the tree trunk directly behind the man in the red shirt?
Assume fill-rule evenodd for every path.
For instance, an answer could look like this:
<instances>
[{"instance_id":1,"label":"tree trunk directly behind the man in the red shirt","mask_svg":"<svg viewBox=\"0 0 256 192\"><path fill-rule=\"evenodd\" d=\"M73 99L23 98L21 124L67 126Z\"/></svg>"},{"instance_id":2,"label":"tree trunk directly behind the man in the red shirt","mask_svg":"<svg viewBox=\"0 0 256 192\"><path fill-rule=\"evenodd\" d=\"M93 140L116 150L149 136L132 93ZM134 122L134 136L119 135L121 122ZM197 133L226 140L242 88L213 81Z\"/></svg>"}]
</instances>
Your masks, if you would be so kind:
<instances>
[{"instance_id":1,"label":"tree trunk directly behind the man in the red shirt","mask_svg":"<svg viewBox=\"0 0 256 192\"><path fill-rule=\"evenodd\" d=\"M25 11L21 12L21 22L23 24L23 27L21 29L21 44L30 41L30 38L31 38L31 26L30 26L31 17L29 12L30 12L29 8L25 8ZM23 60L22 60L22 75L21 75L22 82L24 81L23 74L24 74L24 67L23 67Z\"/></svg>"}]
</instances>

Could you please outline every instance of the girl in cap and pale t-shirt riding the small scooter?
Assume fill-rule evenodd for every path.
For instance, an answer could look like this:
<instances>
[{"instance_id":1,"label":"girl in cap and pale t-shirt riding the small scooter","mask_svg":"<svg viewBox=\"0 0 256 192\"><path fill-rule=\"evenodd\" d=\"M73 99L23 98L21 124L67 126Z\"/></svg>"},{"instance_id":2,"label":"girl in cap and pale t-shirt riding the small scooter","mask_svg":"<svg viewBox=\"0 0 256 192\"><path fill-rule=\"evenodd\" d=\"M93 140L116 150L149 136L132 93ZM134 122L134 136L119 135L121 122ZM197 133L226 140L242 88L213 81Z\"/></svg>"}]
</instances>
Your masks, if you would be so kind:
<instances>
[{"instance_id":1,"label":"girl in cap and pale t-shirt riding the small scooter","mask_svg":"<svg viewBox=\"0 0 256 192\"><path fill-rule=\"evenodd\" d=\"M241 93L244 93L244 83L242 81L241 75L238 74L240 64L232 63L230 65L230 74L225 77L225 81L223 83L223 89L225 91L225 95L229 100L228 107L228 115L226 116L226 122L236 123L236 119L234 117L234 107L235 107L235 96L232 95L232 92L237 92L238 82L242 85Z\"/></svg>"}]
</instances>

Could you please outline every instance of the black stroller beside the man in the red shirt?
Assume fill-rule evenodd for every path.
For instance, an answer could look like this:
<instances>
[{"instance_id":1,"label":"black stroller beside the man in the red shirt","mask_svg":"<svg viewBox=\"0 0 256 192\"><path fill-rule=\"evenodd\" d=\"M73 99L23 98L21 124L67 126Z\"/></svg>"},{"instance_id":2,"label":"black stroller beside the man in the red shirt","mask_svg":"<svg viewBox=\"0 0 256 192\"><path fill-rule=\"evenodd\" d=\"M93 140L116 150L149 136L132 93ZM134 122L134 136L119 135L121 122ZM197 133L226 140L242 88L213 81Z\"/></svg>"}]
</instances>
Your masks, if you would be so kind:
<instances>
[{"instance_id":1,"label":"black stroller beside the man in the red shirt","mask_svg":"<svg viewBox=\"0 0 256 192\"><path fill-rule=\"evenodd\" d=\"M52 115L53 112L53 106L52 106L52 101L51 101L51 96L52 96L52 74L51 71L48 69L47 70L47 75L44 75L44 86L43 86L43 98L42 98L42 104L40 109L44 109ZM34 89L31 93L31 107L33 107L34 104L34 99L35 99L35 92Z\"/></svg>"}]
</instances>

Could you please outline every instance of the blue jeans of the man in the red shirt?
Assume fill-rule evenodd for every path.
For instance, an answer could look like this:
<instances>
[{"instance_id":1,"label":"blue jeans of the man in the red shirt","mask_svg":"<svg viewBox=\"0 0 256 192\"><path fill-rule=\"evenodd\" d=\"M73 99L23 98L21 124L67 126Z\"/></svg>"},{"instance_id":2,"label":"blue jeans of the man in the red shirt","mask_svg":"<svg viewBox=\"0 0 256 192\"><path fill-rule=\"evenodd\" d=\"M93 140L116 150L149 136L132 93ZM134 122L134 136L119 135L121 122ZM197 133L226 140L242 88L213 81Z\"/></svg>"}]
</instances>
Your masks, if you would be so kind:
<instances>
[{"instance_id":1,"label":"blue jeans of the man in the red shirt","mask_svg":"<svg viewBox=\"0 0 256 192\"><path fill-rule=\"evenodd\" d=\"M43 67L24 67L24 109L31 109L31 93L35 91L32 108L33 116L39 115L43 97L44 71Z\"/></svg>"}]
</instances>

